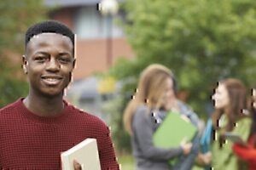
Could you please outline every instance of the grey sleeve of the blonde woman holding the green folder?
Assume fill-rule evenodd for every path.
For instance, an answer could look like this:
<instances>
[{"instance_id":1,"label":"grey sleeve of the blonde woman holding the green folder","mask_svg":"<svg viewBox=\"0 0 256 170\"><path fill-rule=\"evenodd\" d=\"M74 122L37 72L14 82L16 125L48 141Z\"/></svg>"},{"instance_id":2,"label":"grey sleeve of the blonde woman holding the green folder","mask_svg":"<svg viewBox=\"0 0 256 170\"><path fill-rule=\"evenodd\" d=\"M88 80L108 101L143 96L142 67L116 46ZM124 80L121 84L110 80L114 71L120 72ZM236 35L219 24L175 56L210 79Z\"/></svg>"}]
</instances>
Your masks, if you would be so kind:
<instances>
[{"instance_id":1,"label":"grey sleeve of the blonde woman holding the green folder","mask_svg":"<svg viewBox=\"0 0 256 170\"><path fill-rule=\"evenodd\" d=\"M153 144L153 127L146 106L137 109L132 121L132 130L136 144L142 150L143 156L151 160L167 161L182 154L182 148L160 149Z\"/></svg>"}]
</instances>

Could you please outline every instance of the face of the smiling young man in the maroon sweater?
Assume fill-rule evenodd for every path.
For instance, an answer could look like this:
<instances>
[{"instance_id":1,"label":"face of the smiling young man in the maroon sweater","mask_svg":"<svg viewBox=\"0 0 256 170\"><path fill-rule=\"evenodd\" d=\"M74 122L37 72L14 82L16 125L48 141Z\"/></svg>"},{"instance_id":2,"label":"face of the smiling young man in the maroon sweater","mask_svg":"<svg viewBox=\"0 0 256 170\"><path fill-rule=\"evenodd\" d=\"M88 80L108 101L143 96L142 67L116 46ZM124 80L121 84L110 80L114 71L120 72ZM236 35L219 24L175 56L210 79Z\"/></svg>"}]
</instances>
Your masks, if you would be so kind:
<instances>
[{"instance_id":1,"label":"face of the smiling young man in the maroon sweater","mask_svg":"<svg viewBox=\"0 0 256 170\"><path fill-rule=\"evenodd\" d=\"M27 43L23 64L32 93L62 95L73 71L73 43L61 34L38 34Z\"/></svg>"}]
</instances>

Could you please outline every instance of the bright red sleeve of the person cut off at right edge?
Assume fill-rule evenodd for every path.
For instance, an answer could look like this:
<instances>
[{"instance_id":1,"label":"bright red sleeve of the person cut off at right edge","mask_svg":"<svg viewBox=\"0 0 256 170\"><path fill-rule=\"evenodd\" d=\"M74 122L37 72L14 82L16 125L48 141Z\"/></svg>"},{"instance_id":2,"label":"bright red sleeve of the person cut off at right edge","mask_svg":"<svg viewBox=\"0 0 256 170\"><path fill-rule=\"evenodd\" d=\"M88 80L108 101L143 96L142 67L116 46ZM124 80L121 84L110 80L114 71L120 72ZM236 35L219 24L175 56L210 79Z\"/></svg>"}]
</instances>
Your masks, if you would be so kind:
<instances>
[{"instance_id":1,"label":"bright red sleeve of the person cut off at right edge","mask_svg":"<svg viewBox=\"0 0 256 170\"><path fill-rule=\"evenodd\" d=\"M256 169L256 148L254 147L254 138L251 137L248 140L247 146L241 144L233 144L233 151L242 160L247 161L249 170Z\"/></svg>"}]
</instances>

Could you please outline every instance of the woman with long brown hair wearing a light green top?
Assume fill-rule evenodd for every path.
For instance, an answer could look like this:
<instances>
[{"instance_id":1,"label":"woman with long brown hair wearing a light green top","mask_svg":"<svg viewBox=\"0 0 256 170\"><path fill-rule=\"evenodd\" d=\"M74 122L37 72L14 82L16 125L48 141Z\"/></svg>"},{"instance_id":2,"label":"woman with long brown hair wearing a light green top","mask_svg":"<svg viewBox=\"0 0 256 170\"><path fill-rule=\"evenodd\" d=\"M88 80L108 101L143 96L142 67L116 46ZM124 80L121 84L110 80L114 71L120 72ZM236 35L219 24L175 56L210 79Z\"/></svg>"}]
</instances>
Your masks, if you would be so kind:
<instances>
[{"instance_id":1,"label":"woman with long brown hair wearing a light green top","mask_svg":"<svg viewBox=\"0 0 256 170\"><path fill-rule=\"evenodd\" d=\"M246 88L239 80L229 78L218 82L212 99L215 107L212 114L212 167L217 170L245 169L247 164L234 155L232 142L224 139L224 133L236 133L244 140L249 136L251 119L243 112L247 108Z\"/></svg>"}]
</instances>

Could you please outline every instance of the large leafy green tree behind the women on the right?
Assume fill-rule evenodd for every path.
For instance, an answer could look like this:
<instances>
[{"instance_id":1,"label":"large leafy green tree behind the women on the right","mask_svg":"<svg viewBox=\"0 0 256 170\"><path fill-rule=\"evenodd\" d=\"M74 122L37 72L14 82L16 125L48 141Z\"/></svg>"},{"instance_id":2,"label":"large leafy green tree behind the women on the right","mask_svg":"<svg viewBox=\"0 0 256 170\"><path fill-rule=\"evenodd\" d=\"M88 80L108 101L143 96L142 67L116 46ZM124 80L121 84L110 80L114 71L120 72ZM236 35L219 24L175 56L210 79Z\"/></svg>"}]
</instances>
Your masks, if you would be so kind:
<instances>
[{"instance_id":1,"label":"large leafy green tree behind the women on the right","mask_svg":"<svg viewBox=\"0 0 256 170\"><path fill-rule=\"evenodd\" d=\"M125 94L134 93L139 73L151 63L172 69L201 116L218 80L255 84L256 1L128 0L124 7L137 59L120 59L110 74L127 82Z\"/></svg>"}]
</instances>

